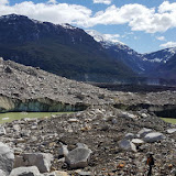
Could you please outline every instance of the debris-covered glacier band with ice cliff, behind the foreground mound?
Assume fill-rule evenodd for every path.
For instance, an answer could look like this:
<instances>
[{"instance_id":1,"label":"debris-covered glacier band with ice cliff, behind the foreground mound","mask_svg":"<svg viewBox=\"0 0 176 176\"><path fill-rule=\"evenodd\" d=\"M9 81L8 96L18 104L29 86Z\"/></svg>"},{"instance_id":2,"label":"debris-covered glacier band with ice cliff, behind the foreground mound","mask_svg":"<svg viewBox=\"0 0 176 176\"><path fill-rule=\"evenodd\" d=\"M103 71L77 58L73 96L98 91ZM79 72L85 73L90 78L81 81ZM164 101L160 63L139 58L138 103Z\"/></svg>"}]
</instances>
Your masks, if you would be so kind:
<instances>
[{"instance_id":1,"label":"debris-covered glacier band with ice cliff, behind the foreground mound","mask_svg":"<svg viewBox=\"0 0 176 176\"><path fill-rule=\"evenodd\" d=\"M2 58L0 82L1 112L79 111L92 105L112 105L127 110L173 110L172 116L176 114L176 91L109 91Z\"/></svg>"}]
</instances>

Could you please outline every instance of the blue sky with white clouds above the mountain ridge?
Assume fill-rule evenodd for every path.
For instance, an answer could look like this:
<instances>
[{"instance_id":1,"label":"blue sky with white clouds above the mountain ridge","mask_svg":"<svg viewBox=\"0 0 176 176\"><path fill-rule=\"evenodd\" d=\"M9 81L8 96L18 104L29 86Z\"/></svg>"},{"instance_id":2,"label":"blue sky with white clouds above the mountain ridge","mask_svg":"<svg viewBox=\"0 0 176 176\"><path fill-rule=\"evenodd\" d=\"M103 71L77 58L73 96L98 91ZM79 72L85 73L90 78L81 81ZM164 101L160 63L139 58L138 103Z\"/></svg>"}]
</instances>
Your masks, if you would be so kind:
<instances>
[{"instance_id":1,"label":"blue sky with white clouds above the mountain ridge","mask_svg":"<svg viewBox=\"0 0 176 176\"><path fill-rule=\"evenodd\" d=\"M96 30L139 53L176 46L175 0L0 0L0 15L11 13Z\"/></svg>"}]
</instances>

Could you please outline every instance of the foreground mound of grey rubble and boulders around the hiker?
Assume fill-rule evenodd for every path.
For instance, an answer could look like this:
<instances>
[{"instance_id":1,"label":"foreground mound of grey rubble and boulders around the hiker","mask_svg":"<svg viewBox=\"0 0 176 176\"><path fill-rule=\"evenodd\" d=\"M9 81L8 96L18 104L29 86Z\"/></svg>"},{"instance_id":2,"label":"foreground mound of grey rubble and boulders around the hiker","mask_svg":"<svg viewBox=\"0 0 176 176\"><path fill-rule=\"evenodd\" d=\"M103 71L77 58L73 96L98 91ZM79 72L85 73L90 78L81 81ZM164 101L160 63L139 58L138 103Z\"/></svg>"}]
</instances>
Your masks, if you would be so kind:
<instances>
[{"instance_id":1,"label":"foreground mound of grey rubble and boulders around the hiker","mask_svg":"<svg viewBox=\"0 0 176 176\"><path fill-rule=\"evenodd\" d=\"M154 153L155 176L169 176L176 168L176 127L147 111L94 106L77 113L13 121L2 128L6 133L0 140L13 148L19 164L11 175L31 173L32 168L34 176L142 176L148 152ZM12 164L0 169L9 173Z\"/></svg>"}]
</instances>

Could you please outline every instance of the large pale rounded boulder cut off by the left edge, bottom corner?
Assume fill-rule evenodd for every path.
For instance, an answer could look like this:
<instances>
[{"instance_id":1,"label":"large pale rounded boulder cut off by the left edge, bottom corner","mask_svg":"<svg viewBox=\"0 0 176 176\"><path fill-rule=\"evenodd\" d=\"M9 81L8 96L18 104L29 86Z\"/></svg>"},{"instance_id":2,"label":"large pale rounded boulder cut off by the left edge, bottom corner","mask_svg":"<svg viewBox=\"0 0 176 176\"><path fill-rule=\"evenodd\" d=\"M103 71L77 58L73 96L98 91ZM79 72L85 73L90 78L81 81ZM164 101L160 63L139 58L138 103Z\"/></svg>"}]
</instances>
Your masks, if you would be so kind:
<instances>
[{"instance_id":1,"label":"large pale rounded boulder cut off by the left edge, bottom corner","mask_svg":"<svg viewBox=\"0 0 176 176\"><path fill-rule=\"evenodd\" d=\"M2 142L0 142L0 169L3 170L7 175L13 168L14 154L13 151Z\"/></svg>"}]
</instances>

